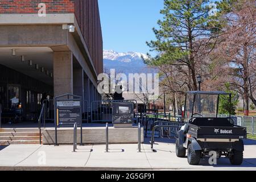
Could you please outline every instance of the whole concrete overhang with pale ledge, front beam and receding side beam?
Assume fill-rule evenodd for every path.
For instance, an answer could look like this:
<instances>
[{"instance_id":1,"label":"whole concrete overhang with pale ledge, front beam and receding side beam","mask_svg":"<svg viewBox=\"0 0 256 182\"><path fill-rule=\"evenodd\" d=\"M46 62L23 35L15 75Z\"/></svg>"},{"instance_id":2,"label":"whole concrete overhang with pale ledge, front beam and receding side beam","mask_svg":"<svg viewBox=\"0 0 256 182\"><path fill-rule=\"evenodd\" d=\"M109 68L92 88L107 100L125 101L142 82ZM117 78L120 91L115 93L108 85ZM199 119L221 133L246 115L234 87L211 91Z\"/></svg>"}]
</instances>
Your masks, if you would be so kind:
<instances>
[{"instance_id":1,"label":"whole concrete overhang with pale ledge, front beam and receding side beam","mask_svg":"<svg viewBox=\"0 0 256 182\"><path fill-rule=\"evenodd\" d=\"M74 24L73 33L63 24ZM53 51L72 51L81 67L97 86L97 72L82 36L75 14L0 14L0 47L49 47Z\"/></svg>"}]
</instances>

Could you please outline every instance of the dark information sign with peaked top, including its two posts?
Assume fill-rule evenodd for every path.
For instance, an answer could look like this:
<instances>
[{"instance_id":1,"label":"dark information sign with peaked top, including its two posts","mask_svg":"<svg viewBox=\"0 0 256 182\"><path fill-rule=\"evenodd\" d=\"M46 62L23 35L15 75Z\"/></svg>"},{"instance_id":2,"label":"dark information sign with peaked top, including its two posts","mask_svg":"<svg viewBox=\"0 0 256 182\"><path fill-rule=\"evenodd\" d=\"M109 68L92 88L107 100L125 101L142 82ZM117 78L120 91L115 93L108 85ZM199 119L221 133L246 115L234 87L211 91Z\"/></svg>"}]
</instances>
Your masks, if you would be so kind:
<instances>
[{"instance_id":1,"label":"dark information sign with peaked top, including its two posts","mask_svg":"<svg viewBox=\"0 0 256 182\"><path fill-rule=\"evenodd\" d=\"M55 146L58 127L73 127L75 123L81 128L82 145L82 97L73 94L64 94L55 97Z\"/></svg>"}]
</instances>

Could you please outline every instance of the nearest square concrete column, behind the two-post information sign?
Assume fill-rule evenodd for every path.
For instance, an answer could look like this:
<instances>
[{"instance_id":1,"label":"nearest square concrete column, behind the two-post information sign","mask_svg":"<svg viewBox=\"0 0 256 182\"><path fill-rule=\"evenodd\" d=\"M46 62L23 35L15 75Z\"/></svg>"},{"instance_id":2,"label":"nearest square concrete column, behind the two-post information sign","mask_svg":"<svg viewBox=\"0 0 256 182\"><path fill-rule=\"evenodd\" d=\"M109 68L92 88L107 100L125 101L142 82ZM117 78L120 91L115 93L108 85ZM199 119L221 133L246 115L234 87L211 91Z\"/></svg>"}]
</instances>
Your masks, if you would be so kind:
<instances>
[{"instance_id":1,"label":"nearest square concrete column, behind the two-post information sign","mask_svg":"<svg viewBox=\"0 0 256 182\"><path fill-rule=\"evenodd\" d=\"M73 54L53 52L54 96L73 94Z\"/></svg>"}]
</instances>

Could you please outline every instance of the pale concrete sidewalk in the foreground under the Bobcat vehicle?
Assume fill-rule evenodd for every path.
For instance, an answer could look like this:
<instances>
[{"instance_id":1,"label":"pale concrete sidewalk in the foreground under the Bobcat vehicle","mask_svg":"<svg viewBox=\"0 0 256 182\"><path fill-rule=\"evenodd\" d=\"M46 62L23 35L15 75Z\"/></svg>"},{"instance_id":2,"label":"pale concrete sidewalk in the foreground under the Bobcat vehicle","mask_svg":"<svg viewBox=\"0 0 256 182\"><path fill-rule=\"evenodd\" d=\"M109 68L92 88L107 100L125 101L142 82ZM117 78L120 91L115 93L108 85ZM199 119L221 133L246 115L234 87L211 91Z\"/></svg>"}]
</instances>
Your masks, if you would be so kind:
<instances>
[{"instance_id":1,"label":"pale concrete sidewalk in the foreground under the Bobcat vehicle","mask_svg":"<svg viewBox=\"0 0 256 182\"><path fill-rule=\"evenodd\" d=\"M201 159L199 166L190 166L187 158L177 158L174 140L162 143L156 140L150 150L148 139L139 153L137 144L111 144L109 153L105 145L40 146L11 145L0 148L0 170L256 170L256 141L245 142L244 162L241 166L230 165L229 159L217 160L210 166L208 159Z\"/></svg>"}]
</instances>

